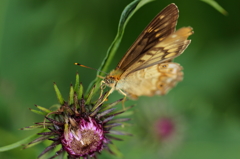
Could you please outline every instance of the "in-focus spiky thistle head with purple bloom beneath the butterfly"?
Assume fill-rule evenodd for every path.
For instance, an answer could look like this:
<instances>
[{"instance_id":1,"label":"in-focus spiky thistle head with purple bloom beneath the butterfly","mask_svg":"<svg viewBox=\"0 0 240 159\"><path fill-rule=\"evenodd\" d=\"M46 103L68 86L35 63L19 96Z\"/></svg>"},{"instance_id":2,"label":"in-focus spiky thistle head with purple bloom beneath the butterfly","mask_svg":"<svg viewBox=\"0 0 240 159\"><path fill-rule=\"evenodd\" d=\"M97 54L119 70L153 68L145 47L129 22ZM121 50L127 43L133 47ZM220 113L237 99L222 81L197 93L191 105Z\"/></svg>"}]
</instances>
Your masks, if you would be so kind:
<instances>
[{"instance_id":1,"label":"in-focus spiky thistle head with purple bloom beneath the butterfly","mask_svg":"<svg viewBox=\"0 0 240 159\"><path fill-rule=\"evenodd\" d=\"M51 140L52 144L48 146L38 157L53 150L57 145L61 145L60 150L51 158L67 153L68 158L97 158L96 154L103 149L110 150L108 144L111 139L121 140L114 135L130 135L125 132L112 130L120 126L129 118L114 119L115 116L123 113L126 109L117 111L113 108L122 99L105 104L106 95L102 94L97 101L92 102L94 87L84 98L83 87L79 84L79 76L76 76L75 87L71 85L69 101L63 100L57 85L54 88L60 102L57 111L50 111L46 108L36 106L41 111L32 110L35 113L45 115L43 122L36 123L34 126L23 128L29 130L32 128L45 128L44 132L38 133L40 137L30 142L25 148L40 143L44 140ZM104 103L104 104L103 104ZM128 107L130 108L130 107Z\"/></svg>"}]
</instances>

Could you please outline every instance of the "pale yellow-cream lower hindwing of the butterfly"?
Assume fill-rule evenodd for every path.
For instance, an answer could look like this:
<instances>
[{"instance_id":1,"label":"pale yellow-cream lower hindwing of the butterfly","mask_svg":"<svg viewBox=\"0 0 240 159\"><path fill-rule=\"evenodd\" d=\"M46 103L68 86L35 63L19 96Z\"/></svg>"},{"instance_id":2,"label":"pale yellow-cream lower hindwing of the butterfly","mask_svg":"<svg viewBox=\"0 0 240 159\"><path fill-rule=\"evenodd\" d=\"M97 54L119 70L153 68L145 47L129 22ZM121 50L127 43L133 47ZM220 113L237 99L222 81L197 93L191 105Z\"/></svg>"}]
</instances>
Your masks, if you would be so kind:
<instances>
[{"instance_id":1,"label":"pale yellow-cream lower hindwing of the butterfly","mask_svg":"<svg viewBox=\"0 0 240 159\"><path fill-rule=\"evenodd\" d=\"M123 90L129 97L164 95L183 78L182 67L166 62L131 73L120 80L117 90Z\"/></svg>"}]
</instances>

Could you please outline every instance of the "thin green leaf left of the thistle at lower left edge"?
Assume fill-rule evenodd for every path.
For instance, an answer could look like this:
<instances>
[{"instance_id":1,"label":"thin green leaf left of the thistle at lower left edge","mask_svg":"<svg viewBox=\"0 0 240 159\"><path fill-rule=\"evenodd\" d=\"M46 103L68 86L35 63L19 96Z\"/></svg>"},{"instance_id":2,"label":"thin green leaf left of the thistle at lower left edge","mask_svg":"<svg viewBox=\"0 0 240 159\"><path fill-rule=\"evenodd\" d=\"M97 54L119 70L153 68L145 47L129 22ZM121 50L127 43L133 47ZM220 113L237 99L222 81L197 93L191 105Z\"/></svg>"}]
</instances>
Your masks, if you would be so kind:
<instances>
[{"instance_id":1,"label":"thin green leaf left of the thistle at lower left edge","mask_svg":"<svg viewBox=\"0 0 240 159\"><path fill-rule=\"evenodd\" d=\"M43 130L41 130L40 132L43 132L43 131L45 131L45 130L43 129ZM40 132L38 132L38 133L40 133ZM31 142L32 140L34 140L34 139L35 139L36 137L38 137L38 136L39 136L39 135L34 134L34 135L30 136L30 137L27 137L27 138L25 138L25 139L23 139L23 140L20 140L20 141L18 141L18 142L13 143L13 144L0 147L0 152L8 151L8 150L12 150L12 149L14 149L14 148L20 147L20 146L22 146L22 145L24 145L24 144L27 144L27 143Z\"/></svg>"}]
</instances>

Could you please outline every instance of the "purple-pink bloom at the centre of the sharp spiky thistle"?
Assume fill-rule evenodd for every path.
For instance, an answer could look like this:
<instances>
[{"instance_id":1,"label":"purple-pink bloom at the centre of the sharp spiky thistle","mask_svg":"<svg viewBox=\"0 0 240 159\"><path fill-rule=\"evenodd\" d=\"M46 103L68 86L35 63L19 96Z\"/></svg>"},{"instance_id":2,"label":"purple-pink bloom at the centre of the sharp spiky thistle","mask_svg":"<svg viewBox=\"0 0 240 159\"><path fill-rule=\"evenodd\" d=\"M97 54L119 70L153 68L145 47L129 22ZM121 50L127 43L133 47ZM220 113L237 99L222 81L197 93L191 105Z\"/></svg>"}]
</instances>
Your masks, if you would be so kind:
<instances>
[{"instance_id":1,"label":"purple-pink bloom at the centre of the sharp spiky thistle","mask_svg":"<svg viewBox=\"0 0 240 159\"><path fill-rule=\"evenodd\" d=\"M63 148L74 157L94 155L103 149L103 144L107 143L104 136L103 126L95 119L80 118L76 121L75 130L68 127L61 137Z\"/></svg>"}]
</instances>

